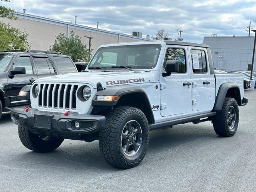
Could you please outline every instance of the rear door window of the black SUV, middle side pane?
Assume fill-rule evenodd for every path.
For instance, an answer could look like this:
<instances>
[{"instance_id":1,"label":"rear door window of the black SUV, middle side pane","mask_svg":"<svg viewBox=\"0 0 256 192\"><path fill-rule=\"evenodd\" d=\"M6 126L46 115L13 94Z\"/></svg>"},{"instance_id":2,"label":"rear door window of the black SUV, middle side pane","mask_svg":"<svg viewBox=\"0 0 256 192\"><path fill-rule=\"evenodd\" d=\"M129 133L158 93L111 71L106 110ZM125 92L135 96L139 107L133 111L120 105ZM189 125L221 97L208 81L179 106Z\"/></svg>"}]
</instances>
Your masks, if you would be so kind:
<instances>
[{"instance_id":1,"label":"rear door window of the black SUV, middle side pane","mask_svg":"<svg viewBox=\"0 0 256 192\"><path fill-rule=\"evenodd\" d=\"M34 57L33 59L34 59L38 74L51 74L51 73L54 74L55 73L52 67L52 64L50 63L50 60L48 58Z\"/></svg>"}]
</instances>

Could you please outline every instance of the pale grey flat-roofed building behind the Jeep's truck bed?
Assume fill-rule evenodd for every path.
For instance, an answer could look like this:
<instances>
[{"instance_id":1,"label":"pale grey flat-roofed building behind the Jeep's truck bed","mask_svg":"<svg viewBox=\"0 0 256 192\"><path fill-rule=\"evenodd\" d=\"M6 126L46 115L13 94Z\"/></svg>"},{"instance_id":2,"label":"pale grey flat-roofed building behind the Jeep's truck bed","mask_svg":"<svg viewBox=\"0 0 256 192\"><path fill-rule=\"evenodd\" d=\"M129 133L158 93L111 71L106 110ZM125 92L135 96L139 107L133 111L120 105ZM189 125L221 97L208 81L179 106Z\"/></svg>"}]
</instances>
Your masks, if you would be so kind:
<instances>
[{"instance_id":1,"label":"pale grey flat-roofed building behind the Jeep's truck bed","mask_svg":"<svg viewBox=\"0 0 256 192\"><path fill-rule=\"evenodd\" d=\"M204 37L211 48L214 68L218 70L251 70L254 37ZM254 68L256 71L256 56Z\"/></svg>"}]
</instances>

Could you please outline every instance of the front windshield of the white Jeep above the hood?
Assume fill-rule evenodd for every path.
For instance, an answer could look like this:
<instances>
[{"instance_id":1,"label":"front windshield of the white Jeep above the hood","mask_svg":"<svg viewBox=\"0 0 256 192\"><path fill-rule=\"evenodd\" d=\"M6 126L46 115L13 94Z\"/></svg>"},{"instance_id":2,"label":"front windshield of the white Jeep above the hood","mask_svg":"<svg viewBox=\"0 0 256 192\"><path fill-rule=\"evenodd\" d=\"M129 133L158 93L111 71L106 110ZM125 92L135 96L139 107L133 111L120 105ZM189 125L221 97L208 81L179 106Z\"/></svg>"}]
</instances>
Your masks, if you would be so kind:
<instances>
[{"instance_id":1,"label":"front windshield of the white Jeep above the hood","mask_svg":"<svg viewBox=\"0 0 256 192\"><path fill-rule=\"evenodd\" d=\"M102 47L94 54L88 68L129 66L132 69L152 69L156 66L160 44Z\"/></svg>"}]
</instances>

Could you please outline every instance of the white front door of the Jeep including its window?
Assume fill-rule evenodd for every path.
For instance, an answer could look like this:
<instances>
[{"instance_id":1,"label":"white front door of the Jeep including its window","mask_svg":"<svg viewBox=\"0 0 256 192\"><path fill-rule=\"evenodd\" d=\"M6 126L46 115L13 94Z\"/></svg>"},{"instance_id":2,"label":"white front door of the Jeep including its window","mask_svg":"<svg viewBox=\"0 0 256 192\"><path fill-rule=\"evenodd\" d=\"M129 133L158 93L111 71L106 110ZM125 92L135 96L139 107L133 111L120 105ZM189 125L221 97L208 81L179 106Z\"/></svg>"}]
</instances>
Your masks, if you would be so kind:
<instances>
[{"instance_id":1,"label":"white front door of the Jeep including its window","mask_svg":"<svg viewBox=\"0 0 256 192\"><path fill-rule=\"evenodd\" d=\"M160 70L161 116L185 114L191 110L191 78L187 46L166 48L163 68ZM166 60L178 60L179 72L163 77Z\"/></svg>"}]
</instances>

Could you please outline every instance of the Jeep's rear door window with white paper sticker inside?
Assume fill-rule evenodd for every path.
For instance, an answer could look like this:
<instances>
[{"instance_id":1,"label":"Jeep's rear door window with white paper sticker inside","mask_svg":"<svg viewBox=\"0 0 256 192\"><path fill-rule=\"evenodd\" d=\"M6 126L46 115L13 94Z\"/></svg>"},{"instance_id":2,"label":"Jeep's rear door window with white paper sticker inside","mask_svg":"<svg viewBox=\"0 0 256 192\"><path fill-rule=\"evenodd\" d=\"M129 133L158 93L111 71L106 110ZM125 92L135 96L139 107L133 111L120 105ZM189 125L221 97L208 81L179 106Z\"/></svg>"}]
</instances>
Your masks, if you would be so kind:
<instances>
[{"instance_id":1,"label":"Jeep's rear door window with white paper sticker inside","mask_svg":"<svg viewBox=\"0 0 256 192\"><path fill-rule=\"evenodd\" d=\"M203 50L191 50L192 68L194 73L206 73L206 56Z\"/></svg>"}]
</instances>

